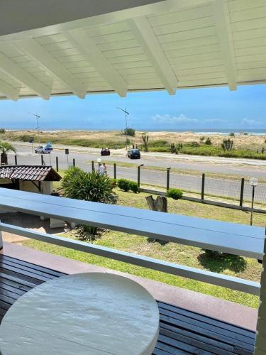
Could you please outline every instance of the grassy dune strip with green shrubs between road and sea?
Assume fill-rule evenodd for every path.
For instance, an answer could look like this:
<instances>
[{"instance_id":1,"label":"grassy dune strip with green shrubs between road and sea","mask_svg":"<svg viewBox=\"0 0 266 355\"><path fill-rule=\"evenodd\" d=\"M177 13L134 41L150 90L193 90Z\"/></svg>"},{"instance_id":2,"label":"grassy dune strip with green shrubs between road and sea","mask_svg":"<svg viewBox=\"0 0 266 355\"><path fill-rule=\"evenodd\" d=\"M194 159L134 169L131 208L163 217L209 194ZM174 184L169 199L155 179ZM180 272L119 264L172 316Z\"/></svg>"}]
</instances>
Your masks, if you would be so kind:
<instances>
[{"instance_id":1,"label":"grassy dune strip with green shrubs between road and sea","mask_svg":"<svg viewBox=\"0 0 266 355\"><path fill-rule=\"evenodd\" d=\"M132 131L131 131L132 130ZM162 152L162 153L182 153L193 155L213 155L230 158L253 158L266 160L266 139L265 137L233 136L228 134L228 138L224 136L196 136L193 133L141 133L134 129L128 128L127 146L138 145L141 151ZM111 149L125 148L125 131L118 132L79 132L70 135L67 131L62 131L59 134L40 132L40 142L45 143L52 141L54 144L63 144L65 146L82 146L102 148L109 147ZM135 136L133 134L135 133ZM0 131L1 134L1 131ZM176 135L179 138L165 138L168 134ZM28 142L29 138L34 137L38 141L34 132L23 131L6 132L1 134L3 139L9 138L11 141ZM0 139L1 139L0 136ZM161 136L162 138L153 138ZM187 137L192 136L191 140ZM71 138L70 138L71 137ZM230 137L230 138L229 138ZM196 141L198 140L198 141ZM230 147L227 145L230 141ZM246 141L246 143L245 143Z\"/></svg>"}]
</instances>

